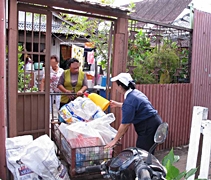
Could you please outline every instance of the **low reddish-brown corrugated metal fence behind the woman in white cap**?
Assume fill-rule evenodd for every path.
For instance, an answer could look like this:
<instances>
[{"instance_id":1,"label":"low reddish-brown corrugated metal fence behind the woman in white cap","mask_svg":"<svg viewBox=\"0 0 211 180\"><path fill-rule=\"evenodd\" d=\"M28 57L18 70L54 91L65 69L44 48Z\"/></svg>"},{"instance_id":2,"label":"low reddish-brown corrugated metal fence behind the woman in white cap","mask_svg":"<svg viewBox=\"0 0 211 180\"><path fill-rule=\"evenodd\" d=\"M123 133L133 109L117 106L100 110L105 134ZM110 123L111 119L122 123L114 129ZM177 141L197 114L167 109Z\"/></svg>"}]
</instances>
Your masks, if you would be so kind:
<instances>
[{"instance_id":1,"label":"low reddish-brown corrugated metal fence behind the woman in white cap","mask_svg":"<svg viewBox=\"0 0 211 180\"><path fill-rule=\"evenodd\" d=\"M169 134L159 149L186 145L189 142L191 123L191 84L137 85L148 96L164 122L169 124ZM120 112L121 113L121 112ZM117 119L119 123L120 120ZM117 126L117 123L115 124ZM116 127L115 126L115 127ZM116 127L118 128L118 127ZM136 132L131 127L123 137L123 148L135 146Z\"/></svg>"}]
</instances>

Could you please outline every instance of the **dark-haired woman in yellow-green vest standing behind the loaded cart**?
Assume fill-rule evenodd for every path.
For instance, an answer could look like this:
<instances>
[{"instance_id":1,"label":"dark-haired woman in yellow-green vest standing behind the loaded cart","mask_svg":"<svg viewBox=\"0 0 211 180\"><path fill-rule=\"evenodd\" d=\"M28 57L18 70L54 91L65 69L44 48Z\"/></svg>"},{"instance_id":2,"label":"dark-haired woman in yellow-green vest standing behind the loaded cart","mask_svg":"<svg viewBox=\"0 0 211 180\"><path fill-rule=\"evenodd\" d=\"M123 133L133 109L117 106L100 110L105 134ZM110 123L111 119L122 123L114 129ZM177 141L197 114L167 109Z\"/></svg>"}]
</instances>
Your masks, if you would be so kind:
<instances>
[{"instance_id":1,"label":"dark-haired woman in yellow-green vest standing behind the loaded cart","mask_svg":"<svg viewBox=\"0 0 211 180\"><path fill-rule=\"evenodd\" d=\"M77 96L83 95L87 89L87 78L86 74L79 70L79 61L75 58L71 58L67 60L67 66L69 69L62 73L57 87L63 93L76 93ZM60 108L71 100L74 100L74 98L75 96L72 95L62 95Z\"/></svg>"}]
</instances>

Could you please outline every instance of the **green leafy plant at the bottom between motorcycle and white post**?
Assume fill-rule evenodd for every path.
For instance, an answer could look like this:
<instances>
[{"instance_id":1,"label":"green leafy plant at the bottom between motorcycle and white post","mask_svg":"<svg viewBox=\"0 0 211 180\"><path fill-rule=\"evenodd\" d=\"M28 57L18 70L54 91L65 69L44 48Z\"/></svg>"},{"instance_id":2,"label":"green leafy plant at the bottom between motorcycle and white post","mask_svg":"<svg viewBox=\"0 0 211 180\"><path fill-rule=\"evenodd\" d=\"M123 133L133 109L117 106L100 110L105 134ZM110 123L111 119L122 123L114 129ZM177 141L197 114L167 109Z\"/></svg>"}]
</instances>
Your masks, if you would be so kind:
<instances>
[{"instance_id":1,"label":"green leafy plant at the bottom between motorcycle and white post","mask_svg":"<svg viewBox=\"0 0 211 180\"><path fill-rule=\"evenodd\" d=\"M162 165L165 166L167 170L166 179L167 180L180 180L182 178L188 179L190 176L194 175L197 171L197 168L191 169L190 171L180 172L173 164L178 161L178 156L174 155L173 148L167 154L163 160Z\"/></svg>"}]
</instances>

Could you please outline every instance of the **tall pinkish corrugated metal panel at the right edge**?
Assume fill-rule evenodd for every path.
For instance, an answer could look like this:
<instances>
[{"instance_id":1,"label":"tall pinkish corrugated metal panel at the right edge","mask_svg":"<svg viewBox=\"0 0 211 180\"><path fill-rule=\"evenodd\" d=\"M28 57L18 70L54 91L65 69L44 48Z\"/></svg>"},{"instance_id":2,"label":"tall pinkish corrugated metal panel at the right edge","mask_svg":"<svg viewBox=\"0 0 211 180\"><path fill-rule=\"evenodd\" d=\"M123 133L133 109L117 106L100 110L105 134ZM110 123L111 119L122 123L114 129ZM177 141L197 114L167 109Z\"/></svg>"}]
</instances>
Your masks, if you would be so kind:
<instances>
[{"instance_id":1,"label":"tall pinkish corrugated metal panel at the right edge","mask_svg":"<svg viewBox=\"0 0 211 180\"><path fill-rule=\"evenodd\" d=\"M193 105L211 111L211 14L194 11L194 31L191 66ZM208 118L211 118L209 113Z\"/></svg>"}]
</instances>

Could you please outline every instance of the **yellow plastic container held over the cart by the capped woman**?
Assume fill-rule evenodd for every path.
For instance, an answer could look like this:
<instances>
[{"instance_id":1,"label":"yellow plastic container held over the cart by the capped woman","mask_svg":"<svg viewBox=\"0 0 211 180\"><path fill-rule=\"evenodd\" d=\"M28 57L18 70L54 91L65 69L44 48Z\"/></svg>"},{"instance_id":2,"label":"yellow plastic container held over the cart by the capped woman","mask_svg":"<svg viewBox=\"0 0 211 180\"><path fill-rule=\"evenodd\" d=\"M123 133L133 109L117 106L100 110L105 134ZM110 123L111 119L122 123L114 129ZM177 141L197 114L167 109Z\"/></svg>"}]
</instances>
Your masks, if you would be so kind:
<instances>
[{"instance_id":1,"label":"yellow plastic container held over the cart by the capped woman","mask_svg":"<svg viewBox=\"0 0 211 180\"><path fill-rule=\"evenodd\" d=\"M96 94L96 93L84 93L84 95L86 97L88 97L89 99L91 99L97 106L99 106L103 111L105 111L108 106L110 105L109 100L105 99L104 97Z\"/></svg>"}]
</instances>

